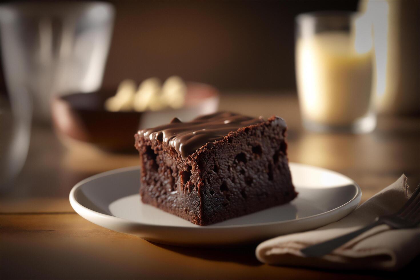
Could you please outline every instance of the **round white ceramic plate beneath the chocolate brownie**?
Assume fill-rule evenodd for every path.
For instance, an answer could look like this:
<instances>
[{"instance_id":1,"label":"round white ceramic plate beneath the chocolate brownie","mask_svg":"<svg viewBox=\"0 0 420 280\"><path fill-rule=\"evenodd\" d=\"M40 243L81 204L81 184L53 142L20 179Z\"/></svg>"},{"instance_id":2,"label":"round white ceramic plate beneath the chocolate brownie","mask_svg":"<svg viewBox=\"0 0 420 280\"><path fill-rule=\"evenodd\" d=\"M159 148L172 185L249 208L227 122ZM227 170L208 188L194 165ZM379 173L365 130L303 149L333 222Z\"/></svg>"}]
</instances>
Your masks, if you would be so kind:
<instances>
[{"instance_id":1,"label":"round white ceramic plate beneath the chocolate brownie","mask_svg":"<svg viewBox=\"0 0 420 280\"><path fill-rule=\"evenodd\" d=\"M179 246L230 245L262 241L337 221L360 202L350 178L319 167L290 163L299 195L288 204L213 225L198 226L143 204L139 167L111 170L79 182L70 192L73 209L104 228Z\"/></svg>"}]
</instances>

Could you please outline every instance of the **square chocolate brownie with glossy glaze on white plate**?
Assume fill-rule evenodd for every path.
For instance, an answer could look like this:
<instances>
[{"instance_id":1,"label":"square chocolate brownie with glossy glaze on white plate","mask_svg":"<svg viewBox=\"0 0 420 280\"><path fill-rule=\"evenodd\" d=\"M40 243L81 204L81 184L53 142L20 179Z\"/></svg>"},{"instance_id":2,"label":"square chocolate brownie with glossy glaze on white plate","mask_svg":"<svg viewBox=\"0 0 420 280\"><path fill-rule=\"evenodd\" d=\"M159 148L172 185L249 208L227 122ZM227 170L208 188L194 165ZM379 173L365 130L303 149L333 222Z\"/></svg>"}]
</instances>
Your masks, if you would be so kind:
<instances>
[{"instance_id":1,"label":"square chocolate brownie with glossy glaze on white plate","mask_svg":"<svg viewBox=\"0 0 420 280\"><path fill-rule=\"evenodd\" d=\"M197 225L287 203L286 123L215 113L138 131L142 201Z\"/></svg>"}]
</instances>

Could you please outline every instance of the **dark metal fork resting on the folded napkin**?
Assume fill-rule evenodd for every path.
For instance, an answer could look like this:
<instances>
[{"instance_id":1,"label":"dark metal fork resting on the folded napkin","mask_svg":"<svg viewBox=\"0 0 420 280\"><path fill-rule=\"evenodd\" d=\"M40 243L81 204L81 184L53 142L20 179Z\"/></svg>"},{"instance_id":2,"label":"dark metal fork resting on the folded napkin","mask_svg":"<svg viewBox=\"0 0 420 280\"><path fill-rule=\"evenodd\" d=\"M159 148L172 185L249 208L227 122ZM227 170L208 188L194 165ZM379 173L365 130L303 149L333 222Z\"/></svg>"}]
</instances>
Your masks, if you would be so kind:
<instances>
[{"instance_id":1,"label":"dark metal fork resting on the folded napkin","mask_svg":"<svg viewBox=\"0 0 420 280\"><path fill-rule=\"evenodd\" d=\"M343 236L333 238L322 243L308 246L300 250L308 257L321 257L333 250L339 248L341 245L347 243L353 238L359 236L377 225L386 224L391 228L414 228L420 223L420 185L417 186L412 196L407 200L404 206L398 212L391 215L379 216L375 222L361 228L360 230L347 233Z\"/></svg>"}]
</instances>

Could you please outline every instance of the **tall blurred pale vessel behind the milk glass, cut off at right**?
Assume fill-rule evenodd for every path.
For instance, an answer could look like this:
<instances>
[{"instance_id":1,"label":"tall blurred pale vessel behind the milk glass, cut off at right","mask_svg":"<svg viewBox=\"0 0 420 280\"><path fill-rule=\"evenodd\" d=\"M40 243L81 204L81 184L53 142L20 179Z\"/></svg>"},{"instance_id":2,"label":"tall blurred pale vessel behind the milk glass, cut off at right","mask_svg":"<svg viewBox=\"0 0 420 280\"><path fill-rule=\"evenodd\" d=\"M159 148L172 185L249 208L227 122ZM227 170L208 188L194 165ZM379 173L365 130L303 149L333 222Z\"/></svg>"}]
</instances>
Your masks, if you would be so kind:
<instances>
[{"instance_id":1,"label":"tall blurred pale vessel behind the milk glass, cut off at right","mask_svg":"<svg viewBox=\"0 0 420 280\"><path fill-rule=\"evenodd\" d=\"M381 113L420 113L420 1L360 1L373 26L374 92Z\"/></svg>"}]
</instances>

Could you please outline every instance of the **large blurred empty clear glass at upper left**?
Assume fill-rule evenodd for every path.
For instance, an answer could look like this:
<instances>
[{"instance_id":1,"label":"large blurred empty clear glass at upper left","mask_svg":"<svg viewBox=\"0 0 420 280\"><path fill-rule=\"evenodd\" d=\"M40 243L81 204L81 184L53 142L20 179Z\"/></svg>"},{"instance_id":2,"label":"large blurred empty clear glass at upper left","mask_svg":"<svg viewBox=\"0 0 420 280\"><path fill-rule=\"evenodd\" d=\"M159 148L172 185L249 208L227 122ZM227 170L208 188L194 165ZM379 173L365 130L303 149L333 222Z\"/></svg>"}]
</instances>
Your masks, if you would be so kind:
<instances>
[{"instance_id":1,"label":"large blurred empty clear glass at upper left","mask_svg":"<svg viewBox=\"0 0 420 280\"><path fill-rule=\"evenodd\" d=\"M32 95L34 120L45 121L52 94L97 90L113 17L113 6L101 2L1 5L3 69L11 102L25 87Z\"/></svg>"}]
</instances>

